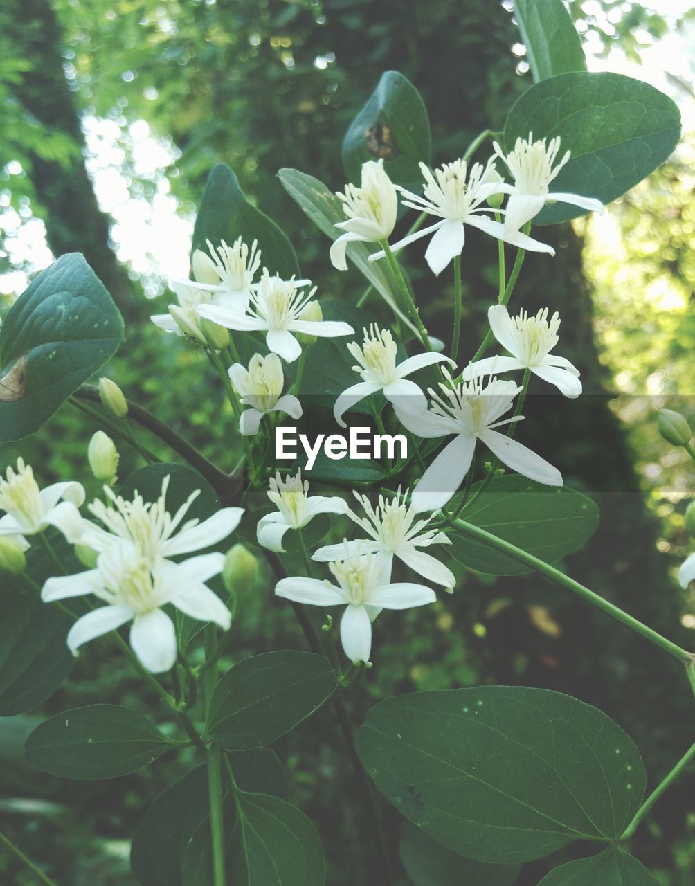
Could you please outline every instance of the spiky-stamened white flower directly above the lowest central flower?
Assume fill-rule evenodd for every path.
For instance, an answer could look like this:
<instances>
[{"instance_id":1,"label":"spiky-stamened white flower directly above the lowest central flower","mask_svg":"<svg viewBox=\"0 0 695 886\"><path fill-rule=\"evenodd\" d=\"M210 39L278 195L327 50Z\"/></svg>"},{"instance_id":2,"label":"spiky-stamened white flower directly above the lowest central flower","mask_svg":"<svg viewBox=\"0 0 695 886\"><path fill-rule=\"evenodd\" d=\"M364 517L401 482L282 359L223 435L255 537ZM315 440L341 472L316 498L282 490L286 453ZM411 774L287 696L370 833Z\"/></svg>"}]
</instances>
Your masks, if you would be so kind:
<instances>
[{"instance_id":1,"label":"spiky-stamened white flower directly above the lowest central flower","mask_svg":"<svg viewBox=\"0 0 695 886\"><path fill-rule=\"evenodd\" d=\"M410 569L424 578L437 585L443 585L448 590L453 589L456 584L454 573L436 557L418 550L436 544L449 545L451 541L443 532L426 528L434 515L416 520L416 510L412 505L409 507L405 503L407 497L407 490L401 494L399 487L390 501L379 495L378 506L372 508L371 501L365 495L355 492L355 498L362 505L366 517L357 517L353 510L348 510L348 517L354 520L369 538L347 541L341 545L325 545L324 548L318 548L312 559L318 563L327 563L340 559L341 552L344 552L345 556L356 556L360 553L376 554L386 562L385 580L390 580L393 559L397 556L406 566L410 566Z\"/></svg>"}]
</instances>

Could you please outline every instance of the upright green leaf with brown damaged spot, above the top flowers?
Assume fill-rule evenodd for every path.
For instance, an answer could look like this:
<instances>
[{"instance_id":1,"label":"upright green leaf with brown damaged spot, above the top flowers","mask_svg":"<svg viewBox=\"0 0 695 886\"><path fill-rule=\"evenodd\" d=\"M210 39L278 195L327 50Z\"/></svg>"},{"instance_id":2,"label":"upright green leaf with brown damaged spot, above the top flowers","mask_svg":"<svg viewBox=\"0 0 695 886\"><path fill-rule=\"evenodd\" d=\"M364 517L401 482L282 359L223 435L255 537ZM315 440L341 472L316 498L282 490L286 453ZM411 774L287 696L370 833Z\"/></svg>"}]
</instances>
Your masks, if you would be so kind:
<instances>
[{"instance_id":1,"label":"upright green leaf with brown damaged spot, above the top flowers","mask_svg":"<svg viewBox=\"0 0 695 886\"><path fill-rule=\"evenodd\" d=\"M343 140L343 167L359 184L362 165L383 158L391 180L410 190L422 187L419 163L429 165L432 136L425 102L407 77L381 75L377 88L352 121Z\"/></svg>"}]
</instances>

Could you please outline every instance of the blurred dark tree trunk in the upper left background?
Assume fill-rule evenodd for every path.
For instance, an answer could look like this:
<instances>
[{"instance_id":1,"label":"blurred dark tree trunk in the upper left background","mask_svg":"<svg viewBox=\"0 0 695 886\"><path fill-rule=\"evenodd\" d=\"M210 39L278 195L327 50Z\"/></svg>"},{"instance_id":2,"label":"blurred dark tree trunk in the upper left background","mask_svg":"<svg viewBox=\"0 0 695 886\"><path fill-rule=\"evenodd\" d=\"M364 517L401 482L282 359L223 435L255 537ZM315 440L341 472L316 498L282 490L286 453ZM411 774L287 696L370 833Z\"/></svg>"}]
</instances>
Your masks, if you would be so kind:
<instances>
[{"instance_id":1,"label":"blurred dark tree trunk in the upper left background","mask_svg":"<svg viewBox=\"0 0 695 886\"><path fill-rule=\"evenodd\" d=\"M121 311L133 315L132 284L113 253L108 219L98 207L84 164L84 136L63 70L58 19L48 0L9 0L9 5L12 11L5 10L4 16L9 33L4 37L32 65L13 87L15 96L44 127L65 133L79 148L67 164L29 153L27 174L45 210L51 252L83 253Z\"/></svg>"}]
</instances>

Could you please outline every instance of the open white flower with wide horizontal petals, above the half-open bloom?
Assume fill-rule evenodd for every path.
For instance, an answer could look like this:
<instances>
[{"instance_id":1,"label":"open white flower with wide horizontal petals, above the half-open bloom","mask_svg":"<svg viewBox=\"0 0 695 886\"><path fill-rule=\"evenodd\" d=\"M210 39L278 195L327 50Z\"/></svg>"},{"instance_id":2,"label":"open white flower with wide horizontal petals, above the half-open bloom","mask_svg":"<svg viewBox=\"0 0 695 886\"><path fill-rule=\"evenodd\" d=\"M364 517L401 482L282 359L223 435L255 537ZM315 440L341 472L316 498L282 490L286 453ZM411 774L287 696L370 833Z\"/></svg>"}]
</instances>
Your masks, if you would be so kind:
<instances>
[{"instance_id":1,"label":"open white flower with wide horizontal petals, above the half-open bloom","mask_svg":"<svg viewBox=\"0 0 695 886\"><path fill-rule=\"evenodd\" d=\"M326 320L301 320L301 312L316 293L316 287L302 295L297 286L302 281L282 280L264 273L258 289L251 293L248 314L236 314L215 305L201 305L199 316L230 330L264 331L269 351L291 363L301 354L301 345L293 332L304 332L317 338L352 335L348 323Z\"/></svg>"}]
</instances>

